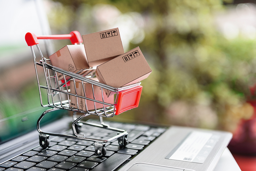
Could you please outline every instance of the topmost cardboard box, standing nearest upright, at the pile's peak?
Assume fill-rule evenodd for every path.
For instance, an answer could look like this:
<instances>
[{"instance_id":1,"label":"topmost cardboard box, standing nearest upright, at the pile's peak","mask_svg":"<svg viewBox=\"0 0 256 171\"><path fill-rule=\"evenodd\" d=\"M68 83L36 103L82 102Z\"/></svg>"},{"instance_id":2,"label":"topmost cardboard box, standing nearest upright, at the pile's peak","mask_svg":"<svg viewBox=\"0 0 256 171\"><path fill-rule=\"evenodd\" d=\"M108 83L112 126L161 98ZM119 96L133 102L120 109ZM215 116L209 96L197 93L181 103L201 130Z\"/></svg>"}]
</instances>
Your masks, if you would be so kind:
<instances>
[{"instance_id":1,"label":"topmost cardboard box, standing nearest upright, at the pile's peak","mask_svg":"<svg viewBox=\"0 0 256 171\"><path fill-rule=\"evenodd\" d=\"M124 53L118 28L82 35L90 67L98 66Z\"/></svg>"}]
</instances>

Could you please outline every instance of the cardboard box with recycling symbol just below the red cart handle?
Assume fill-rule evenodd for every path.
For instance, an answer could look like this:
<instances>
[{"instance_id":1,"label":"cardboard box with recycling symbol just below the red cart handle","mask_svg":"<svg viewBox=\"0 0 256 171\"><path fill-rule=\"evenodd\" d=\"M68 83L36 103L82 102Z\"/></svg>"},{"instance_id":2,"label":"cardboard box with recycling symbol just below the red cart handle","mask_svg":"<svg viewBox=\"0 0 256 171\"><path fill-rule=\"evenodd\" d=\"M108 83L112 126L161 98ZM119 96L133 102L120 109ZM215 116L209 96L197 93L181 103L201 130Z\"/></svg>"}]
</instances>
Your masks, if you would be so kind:
<instances>
[{"instance_id":1,"label":"cardboard box with recycling symbol just below the red cart handle","mask_svg":"<svg viewBox=\"0 0 256 171\"><path fill-rule=\"evenodd\" d=\"M81 69L89 68L83 45L66 45L49 56L49 58L53 66L73 73L77 73ZM85 74L85 72L79 74L82 75ZM57 76L58 80L64 78L63 74L59 72L57 72Z\"/></svg>"}]
</instances>

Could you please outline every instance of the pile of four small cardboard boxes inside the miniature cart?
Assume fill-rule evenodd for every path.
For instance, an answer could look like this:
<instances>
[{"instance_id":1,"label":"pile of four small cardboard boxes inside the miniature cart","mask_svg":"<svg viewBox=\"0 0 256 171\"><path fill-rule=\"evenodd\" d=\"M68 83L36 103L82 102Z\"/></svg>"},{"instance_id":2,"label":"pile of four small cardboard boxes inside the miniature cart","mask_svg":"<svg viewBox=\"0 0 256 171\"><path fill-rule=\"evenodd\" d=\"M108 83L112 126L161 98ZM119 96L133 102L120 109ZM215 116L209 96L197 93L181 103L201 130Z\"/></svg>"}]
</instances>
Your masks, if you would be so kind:
<instances>
[{"instance_id":1,"label":"pile of four small cardboard boxes inside the miniature cart","mask_svg":"<svg viewBox=\"0 0 256 171\"><path fill-rule=\"evenodd\" d=\"M97 66L95 72L97 78L94 80L117 88L139 82L152 72L139 47L124 53L118 28L82 35L82 38L83 45L67 45L51 55L49 58L52 65L74 73ZM60 73L57 76L58 80L63 79ZM76 94L77 91L79 96L94 99L92 86L95 100L102 101L101 87L85 82L82 85L79 80L75 83L71 80L70 93ZM106 89L103 91L104 102L114 104L114 93ZM86 106L87 110L103 107L101 103L95 103L94 106L93 101L83 98L78 98L77 101L72 95L70 95L70 105L80 110L86 110Z\"/></svg>"}]
</instances>

